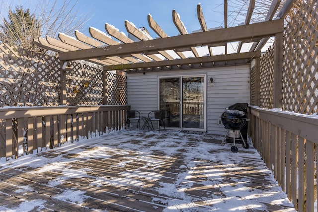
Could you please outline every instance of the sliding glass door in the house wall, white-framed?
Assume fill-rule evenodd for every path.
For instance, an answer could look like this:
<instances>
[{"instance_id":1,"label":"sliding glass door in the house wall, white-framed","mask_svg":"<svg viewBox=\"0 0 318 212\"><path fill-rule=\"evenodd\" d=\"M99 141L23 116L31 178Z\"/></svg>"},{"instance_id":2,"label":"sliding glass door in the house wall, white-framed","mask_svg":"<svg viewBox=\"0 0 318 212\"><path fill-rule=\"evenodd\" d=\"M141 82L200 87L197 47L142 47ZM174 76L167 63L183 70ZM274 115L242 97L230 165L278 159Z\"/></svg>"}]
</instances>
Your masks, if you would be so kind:
<instances>
[{"instance_id":1,"label":"sliding glass door in the house wall, white-framed","mask_svg":"<svg viewBox=\"0 0 318 212\"><path fill-rule=\"evenodd\" d=\"M159 78L159 109L167 127L205 130L204 76Z\"/></svg>"}]
</instances>

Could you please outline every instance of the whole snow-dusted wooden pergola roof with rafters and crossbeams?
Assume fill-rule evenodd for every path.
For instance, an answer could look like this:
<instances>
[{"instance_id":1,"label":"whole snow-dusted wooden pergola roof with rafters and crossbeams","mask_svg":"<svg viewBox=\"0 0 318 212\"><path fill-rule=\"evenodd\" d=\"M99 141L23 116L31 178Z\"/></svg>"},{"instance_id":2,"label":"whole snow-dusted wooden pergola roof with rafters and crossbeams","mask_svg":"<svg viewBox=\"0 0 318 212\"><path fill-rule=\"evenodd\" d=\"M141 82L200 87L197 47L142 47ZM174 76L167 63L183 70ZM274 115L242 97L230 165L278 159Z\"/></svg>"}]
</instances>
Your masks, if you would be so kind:
<instances>
[{"instance_id":1,"label":"whole snow-dusted wooden pergola roof with rafters and crossbeams","mask_svg":"<svg viewBox=\"0 0 318 212\"><path fill-rule=\"evenodd\" d=\"M295 0L289 0L284 7L289 7ZM38 46L59 52L61 61L87 60L103 65L105 71L122 70L126 72L180 70L193 68L213 67L218 64L245 64L253 58L260 56L260 49L271 36L282 34L284 30L283 19L286 12L281 12L280 19L271 20L278 8L280 0L274 0L266 21L249 24L255 0L250 1L245 25L227 26L227 0L224 1L225 28L209 30L203 15L201 4L197 5L197 16L202 31L188 33L181 21L180 15L173 10L172 20L180 35L169 37L151 15L148 23L158 35L152 39L150 35L137 28L132 22L126 20L127 32L140 41L134 42L124 33L106 23L104 33L89 27L91 37L75 31L76 37L59 33L59 39L50 37L38 38ZM286 8L282 9L286 11ZM118 41L116 41L115 39ZM237 53L227 54L227 44L239 42ZM249 52L240 52L243 43L254 42ZM223 55L213 55L212 47L225 47ZM209 55L200 56L198 47L207 47ZM256 48L257 47L257 48ZM192 56L186 53L192 52Z\"/></svg>"}]
</instances>

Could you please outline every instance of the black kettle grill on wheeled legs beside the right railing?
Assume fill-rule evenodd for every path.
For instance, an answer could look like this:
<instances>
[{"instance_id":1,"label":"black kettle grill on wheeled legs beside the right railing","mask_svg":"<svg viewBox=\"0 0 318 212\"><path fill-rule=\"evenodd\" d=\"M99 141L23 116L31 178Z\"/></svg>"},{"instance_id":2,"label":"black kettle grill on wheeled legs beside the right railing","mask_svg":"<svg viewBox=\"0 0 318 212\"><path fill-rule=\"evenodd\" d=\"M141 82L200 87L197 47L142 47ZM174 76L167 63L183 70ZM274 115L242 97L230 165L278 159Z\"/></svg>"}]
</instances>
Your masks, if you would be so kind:
<instances>
[{"instance_id":1,"label":"black kettle grill on wheeled legs beside the right railing","mask_svg":"<svg viewBox=\"0 0 318 212\"><path fill-rule=\"evenodd\" d=\"M246 103L236 103L229 106L227 111L221 115L222 124L227 129L227 133L221 143L221 145L232 142L232 152L238 152L239 148L236 145L236 141L242 143L243 148L249 148L247 142L247 107Z\"/></svg>"}]
</instances>

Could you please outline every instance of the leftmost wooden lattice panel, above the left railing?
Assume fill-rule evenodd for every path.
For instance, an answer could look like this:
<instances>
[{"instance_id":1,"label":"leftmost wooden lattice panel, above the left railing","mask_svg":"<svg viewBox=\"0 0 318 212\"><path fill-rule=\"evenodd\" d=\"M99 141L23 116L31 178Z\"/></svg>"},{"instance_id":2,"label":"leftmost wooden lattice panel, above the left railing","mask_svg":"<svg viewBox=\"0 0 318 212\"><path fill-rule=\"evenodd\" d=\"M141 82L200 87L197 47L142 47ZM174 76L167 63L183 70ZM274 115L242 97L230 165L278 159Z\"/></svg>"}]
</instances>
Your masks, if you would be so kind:
<instances>
[{"instance_id":1,"label":"leftmost wooden lattice panel, above the left railing","mask_svg":"<svg viewBox=\"0 0 318 212\"><path fill-rule=\"evenodd\" d=\"M59 60L0 44L0 107L59 104Z\"/></svg>"}]
</instances>

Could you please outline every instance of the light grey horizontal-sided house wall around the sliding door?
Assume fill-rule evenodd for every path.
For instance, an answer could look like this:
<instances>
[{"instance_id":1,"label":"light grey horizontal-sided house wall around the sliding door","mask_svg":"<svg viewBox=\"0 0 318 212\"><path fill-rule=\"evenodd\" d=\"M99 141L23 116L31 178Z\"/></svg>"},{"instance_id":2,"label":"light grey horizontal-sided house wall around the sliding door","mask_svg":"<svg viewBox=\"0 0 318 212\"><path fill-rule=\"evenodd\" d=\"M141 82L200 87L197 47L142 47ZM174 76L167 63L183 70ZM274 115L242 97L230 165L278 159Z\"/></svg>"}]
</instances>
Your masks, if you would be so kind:
<instances>
[{"instance_id":1,"label":"light grey horizontal-sided house wall around the sliding door","mask_svg":"<svg viewBox=\"0 0 318 212\"><path fill-rule=\"evenodd\" d=\"M158 77L178 75L206 75L207 132L224 135L224 126L218 124L225 108L250 101L249 90L250 65L193 69L183 71L154 71L127 73L128 104L131 110L138 110L141 116L147 116L152 110L158 110ZM210 85L210 78L214 84Z\"/></svg>"}]
</instances>

